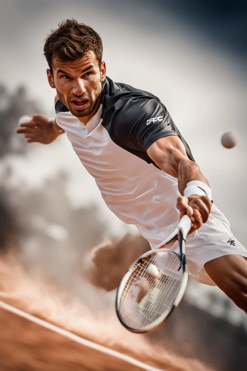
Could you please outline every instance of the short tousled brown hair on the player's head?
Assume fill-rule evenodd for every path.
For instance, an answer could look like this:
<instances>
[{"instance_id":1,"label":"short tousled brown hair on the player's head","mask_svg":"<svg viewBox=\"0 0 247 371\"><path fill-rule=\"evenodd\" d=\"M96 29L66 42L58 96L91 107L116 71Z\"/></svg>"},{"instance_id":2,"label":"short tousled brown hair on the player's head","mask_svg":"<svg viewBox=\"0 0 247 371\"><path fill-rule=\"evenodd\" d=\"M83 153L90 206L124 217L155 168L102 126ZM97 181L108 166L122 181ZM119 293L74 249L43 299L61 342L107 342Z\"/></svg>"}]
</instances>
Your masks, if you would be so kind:
<instances>
[{"instance_id":1,"label":"short tousled brown hair on the player's head","mask_svg":"<svg viewBox=\"0 0 247 371\"><path fill-rule=\"evenodd\" d=\"M92 27L78 23L75 19L60 22L59 28L51 30L44 41L44 56L51 72L53 57L67 62L83 57L89 50L95 53L99 66L101 65L103 54L101 37Z\"/></svg>"}]
</instances>

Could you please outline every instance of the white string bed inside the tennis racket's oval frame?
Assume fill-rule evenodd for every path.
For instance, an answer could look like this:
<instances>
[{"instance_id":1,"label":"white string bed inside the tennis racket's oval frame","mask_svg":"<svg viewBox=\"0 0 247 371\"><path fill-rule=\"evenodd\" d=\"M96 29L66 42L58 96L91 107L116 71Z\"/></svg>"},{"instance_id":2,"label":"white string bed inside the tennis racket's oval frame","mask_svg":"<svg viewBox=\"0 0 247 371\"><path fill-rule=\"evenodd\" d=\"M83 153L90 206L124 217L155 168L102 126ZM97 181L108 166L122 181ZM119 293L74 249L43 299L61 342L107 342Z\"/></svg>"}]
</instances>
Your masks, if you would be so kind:
<instances>
[{"instance_id":1,"label":"white string bed inside the tennis racket's oval frame","mask_svg":"<svg viewBox=\"0 0 247 371\"><path fill-rule=\"evenodd\" d=\"M158 276L148 272L153 264ZM172 252L154 252L140 259L131 269L119 300L119 314L131 328L143 328L170 312L180 289L181 260Z\"/></svg>"}]
</instances>

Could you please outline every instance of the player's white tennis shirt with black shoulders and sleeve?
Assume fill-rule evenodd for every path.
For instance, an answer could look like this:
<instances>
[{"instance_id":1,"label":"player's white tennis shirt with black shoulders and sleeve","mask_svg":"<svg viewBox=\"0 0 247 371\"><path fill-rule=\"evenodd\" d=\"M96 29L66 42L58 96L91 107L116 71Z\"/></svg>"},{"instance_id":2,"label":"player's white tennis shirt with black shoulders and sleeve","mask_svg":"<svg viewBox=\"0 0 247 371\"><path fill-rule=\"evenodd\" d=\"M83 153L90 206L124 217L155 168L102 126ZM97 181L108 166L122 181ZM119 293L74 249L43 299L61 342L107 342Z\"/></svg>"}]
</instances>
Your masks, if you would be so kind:
<instances>
[{"instance_id":1,"label":"player's white tennis shirt with black shoulders and sleeve","mask_svg":"<svg viewBox=\"0 0 247 371\"><path fill-rule=\"evenodd\" d=\"M194 159L156 96L108 77L102 85L100 108L86 126L61 101L55 105L56 121L109 209L125 223L134 224L154 247L178 222L180 193L177 179L160 170L147 149L157 139L177 135L188 158Z\"/></svg>"}]
</instances>

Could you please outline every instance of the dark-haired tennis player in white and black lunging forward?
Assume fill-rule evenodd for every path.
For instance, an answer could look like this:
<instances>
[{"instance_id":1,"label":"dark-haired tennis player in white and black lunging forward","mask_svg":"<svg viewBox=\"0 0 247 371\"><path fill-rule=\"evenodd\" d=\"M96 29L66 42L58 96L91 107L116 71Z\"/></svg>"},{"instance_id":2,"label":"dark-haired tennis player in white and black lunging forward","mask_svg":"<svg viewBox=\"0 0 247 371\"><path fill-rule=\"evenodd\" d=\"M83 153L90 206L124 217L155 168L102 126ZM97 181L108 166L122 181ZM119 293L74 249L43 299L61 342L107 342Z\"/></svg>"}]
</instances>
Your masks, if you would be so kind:
<instances>
[{"instance_id":1,"label":"dark-haired tennis player in white and black lunging forward","mask_svg":"<svg viewBox=\"0 0 247 371\"><path fill-rule=\"evenodd\" d=\"M91 27L61 22L44 45L56 118L34 115L17 133L49 144L65 132L109 209L134 224L151 247L187 214L190 276L217 285L247 312L247 251L212 203L190 148L160 99L106 76L102 53Z\"/></svg>"}]
</instances>

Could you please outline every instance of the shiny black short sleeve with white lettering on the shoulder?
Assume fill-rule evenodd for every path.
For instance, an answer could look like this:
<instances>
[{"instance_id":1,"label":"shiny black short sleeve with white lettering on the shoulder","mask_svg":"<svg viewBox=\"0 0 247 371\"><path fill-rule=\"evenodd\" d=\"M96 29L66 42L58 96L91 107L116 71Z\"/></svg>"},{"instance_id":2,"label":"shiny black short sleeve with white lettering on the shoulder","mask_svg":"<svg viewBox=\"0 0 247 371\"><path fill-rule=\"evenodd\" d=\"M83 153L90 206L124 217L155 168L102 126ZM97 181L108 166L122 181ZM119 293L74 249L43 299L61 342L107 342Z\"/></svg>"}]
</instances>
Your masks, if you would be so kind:
<instances>
[{"instance_id":1,"label":"shiny black short sleeve with white lettering on the shoulder","mask_svg":"<svg viewBox=\"0 0 247 371\"><path fill-rule=\"evenodd\" d=\"M166 107L154 98L129 99L118 116L116 136L136 150L146 152L160 138L179 136Z\"/></svg>"}]
</instances>

